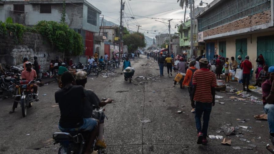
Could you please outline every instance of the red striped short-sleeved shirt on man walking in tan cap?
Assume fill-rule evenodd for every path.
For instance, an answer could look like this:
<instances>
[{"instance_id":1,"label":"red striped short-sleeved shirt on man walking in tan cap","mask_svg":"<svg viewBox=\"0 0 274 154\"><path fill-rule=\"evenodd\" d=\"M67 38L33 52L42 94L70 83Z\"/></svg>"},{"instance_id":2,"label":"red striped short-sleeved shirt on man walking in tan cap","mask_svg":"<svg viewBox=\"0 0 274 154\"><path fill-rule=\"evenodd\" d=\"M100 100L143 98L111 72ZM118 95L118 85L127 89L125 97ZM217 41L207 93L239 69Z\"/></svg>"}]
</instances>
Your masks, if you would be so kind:
<instances>
[{"instance_id":1,"label":"red striped short-sleeved shirt on man walking in tan cap","mask_svg":"<svg viewBox=\"0 0 274 154\"><path fill-rule=\"evenodd\" d=\"M211 87L217 86L215 74L207 68L201 68L193 74L192 84L196 85L194 101L211 103L213 101Z\"/></svg>"}]
</instances>

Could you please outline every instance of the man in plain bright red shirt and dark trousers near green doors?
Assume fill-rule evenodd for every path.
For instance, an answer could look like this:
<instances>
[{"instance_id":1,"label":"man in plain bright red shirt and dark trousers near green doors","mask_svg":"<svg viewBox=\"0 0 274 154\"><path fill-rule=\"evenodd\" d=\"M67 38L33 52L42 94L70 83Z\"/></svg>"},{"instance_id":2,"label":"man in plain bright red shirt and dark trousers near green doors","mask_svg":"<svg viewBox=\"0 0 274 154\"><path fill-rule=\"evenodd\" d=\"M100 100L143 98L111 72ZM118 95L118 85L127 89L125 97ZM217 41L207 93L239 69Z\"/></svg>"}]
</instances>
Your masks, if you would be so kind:
<instances>
[{"instance_id":1,"label":"man in plain bright red shirt and dark trousers near green doors","mask_svg":"<svg viewBox=\"0 0 274 154\"><path fill-rule=\"evenodd\" d=\"M243 70L243 91L251 92L251 90L249 90L248 88L250 80L250 70L252 69L252 64L249 61L249 56L246 56L245 61L242 62L241 69Z\"/></svg>"}]
</instances>

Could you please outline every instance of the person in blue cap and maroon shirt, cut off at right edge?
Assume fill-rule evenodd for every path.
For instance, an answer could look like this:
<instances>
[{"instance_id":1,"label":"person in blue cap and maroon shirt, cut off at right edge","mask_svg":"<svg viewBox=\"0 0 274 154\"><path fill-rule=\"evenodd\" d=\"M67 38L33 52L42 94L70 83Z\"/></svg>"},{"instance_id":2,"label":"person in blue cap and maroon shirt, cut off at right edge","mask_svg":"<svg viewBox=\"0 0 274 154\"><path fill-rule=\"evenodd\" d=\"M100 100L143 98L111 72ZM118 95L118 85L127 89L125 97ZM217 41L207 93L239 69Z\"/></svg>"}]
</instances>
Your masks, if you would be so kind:
<instances>
[{"instance_id":1,"label":"person in blue cap and maroon shirt, cut off at right edge","mask_svg":"<svg viewBox=\"0 0 274 154\"><path fill-rule=\"evenodd\" d=\"M270 140L274 145L274 66L268 68L270 79L262 84L264 111L267 114Z\"/></svg>"}]
</instances>

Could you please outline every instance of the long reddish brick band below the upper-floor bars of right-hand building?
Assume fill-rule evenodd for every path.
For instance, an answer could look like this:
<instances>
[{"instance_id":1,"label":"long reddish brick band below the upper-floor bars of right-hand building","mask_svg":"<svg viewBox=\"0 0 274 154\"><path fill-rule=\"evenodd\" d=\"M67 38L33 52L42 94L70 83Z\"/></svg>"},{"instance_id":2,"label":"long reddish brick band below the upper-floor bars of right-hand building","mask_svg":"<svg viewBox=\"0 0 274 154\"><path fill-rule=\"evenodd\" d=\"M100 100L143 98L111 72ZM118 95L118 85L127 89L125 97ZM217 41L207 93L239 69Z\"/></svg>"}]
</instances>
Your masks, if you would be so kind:
<instances>
[{"instance_id":1,"label":"long reddish brick band below the upper-floor bars of right-hand building","mask_svg":"<svg viewBox=\"0 0 274 154\"><path fill-rule=\"evenodd\" d=\"M235 31L243 28L253 27L271 22L271 10L247 16L245 18L224 24L217 28L204 31L204 37Z\"/></svg>"}]
</instances>

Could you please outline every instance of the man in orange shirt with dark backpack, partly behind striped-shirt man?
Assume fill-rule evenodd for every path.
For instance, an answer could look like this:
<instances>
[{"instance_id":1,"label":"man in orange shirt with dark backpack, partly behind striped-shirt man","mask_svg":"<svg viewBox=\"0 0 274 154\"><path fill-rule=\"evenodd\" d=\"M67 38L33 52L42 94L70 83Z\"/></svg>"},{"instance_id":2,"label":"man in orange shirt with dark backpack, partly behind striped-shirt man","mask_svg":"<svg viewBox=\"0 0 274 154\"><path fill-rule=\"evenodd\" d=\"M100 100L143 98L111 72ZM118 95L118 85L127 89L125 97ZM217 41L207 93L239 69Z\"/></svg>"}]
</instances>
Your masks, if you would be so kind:
<instances>
[{"instance_id":1,"label":"man in orange shirt with dark backpack, partly behind striped-shirt man","mask_svg":"<svg viewBox=\"0 0 274 154\"><path fill-rule=\"evenodd\" d=\"M192 106L192 110L191 112L195 112L195 105L194 102L192 102L191 98L192 98L192 90L193 90L193 74L194 72L197 70L197 68L195 68L196 61L195 60L191 60L190 61L190 68L187 69L187 73L185 76L185 79L183 80L183 87L184 86L188 86L188 93L189 93L189 97L190 97L190 101L191 101L191 106Z\"/></svg>"}]
</instances>

